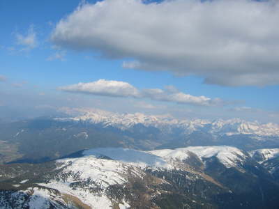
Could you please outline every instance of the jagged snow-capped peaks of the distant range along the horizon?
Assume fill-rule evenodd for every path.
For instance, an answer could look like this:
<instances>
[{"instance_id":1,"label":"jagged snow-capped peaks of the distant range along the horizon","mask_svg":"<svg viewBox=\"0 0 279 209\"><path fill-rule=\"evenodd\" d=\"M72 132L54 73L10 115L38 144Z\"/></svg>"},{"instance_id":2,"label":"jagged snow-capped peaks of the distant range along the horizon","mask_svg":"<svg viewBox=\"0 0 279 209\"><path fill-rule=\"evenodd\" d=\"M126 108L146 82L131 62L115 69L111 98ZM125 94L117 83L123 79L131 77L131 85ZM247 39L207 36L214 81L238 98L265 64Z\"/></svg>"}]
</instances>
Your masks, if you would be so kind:
<instances>
[{"instance_id":1,"label":"jagged snow-capped peaks of the distant range along the horizon","mask_svg":"<svg viewBox=\"0 0 279 209\"><path fill-rule=\"evenodd\" d=\"M171 132L172 128L180 128L186 134L195 130L206 130L210 134L255 134L262 136L279 136L279 125L274 123L258 123L257 121L243 121L239 118L230 120L219 119L216 121L194 119L178 120L172 116L147 116L141 113L116 114L109 111L94 110L86 111L82 116L70 118L56 118L59 121L84 121L87 123L101 124L104 127L117 127L128 130L137 124L146 127L157 127L164 132Z\"/></svg>"}]
</instances>

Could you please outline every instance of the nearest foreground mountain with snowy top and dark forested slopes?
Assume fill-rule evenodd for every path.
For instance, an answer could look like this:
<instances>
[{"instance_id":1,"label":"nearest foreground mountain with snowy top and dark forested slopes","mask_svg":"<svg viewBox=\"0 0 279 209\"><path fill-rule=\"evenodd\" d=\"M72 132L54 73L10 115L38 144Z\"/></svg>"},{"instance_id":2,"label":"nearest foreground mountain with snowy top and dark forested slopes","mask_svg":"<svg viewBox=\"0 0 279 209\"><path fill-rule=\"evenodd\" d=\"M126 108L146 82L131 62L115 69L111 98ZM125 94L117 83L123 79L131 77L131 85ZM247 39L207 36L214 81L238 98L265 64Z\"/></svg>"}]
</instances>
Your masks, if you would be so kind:
<instances>
[{"instance_id":1,"label":"nearest foreground mountain with snowy top and dark forested slopes","mask_svg":"<svg viewBox=\"0 0 279 209\"><path fill-rule=\"evenodd\" d=\"M214 163L214 157L219 163L209 169L192 167L193 156L205 165ZM247 159L251 158L245 152L229 146L151 151L93 148L43 164L0 165L0 208L277 206L279 186L269 181L259 164L251 164L256 172L238 169ZM261 191L265 201L257 198ZM246 202L241 206L243 196Z\"/></svg>"}]
</instances>

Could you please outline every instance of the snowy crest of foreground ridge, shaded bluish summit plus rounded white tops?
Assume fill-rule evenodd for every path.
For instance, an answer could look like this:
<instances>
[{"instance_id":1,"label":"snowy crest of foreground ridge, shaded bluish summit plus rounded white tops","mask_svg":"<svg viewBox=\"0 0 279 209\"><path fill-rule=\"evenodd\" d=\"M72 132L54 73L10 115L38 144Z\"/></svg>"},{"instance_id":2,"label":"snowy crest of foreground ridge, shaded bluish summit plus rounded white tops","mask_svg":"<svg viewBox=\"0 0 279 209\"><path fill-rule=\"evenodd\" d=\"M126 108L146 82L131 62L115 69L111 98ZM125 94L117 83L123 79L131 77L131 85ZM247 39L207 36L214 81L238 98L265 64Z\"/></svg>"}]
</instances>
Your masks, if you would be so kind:
<instances>
[{"instance_id":1,"label":"snowy crest of foreground ridge, shaded bluish summit plus rounded white tops","mask_svg":"<svg viewBox=\"0 0 279 209\"><path fill-rule=\"evenodd\" d=\"M186 148L141 151L128 148L93 148L83 152L79 159L111 159L140 169L174 169L173 160L184 161L194 153L202 162L216 156L225 167L238 167L248 157L238 148L231 146L189 146ZM64 162L65 160L62 160ZM70 159L70 161L73 161ZM75 159L74 162L76 163ZM72 168L71 168L72 169ZM73 168L75 169L75 168ZM177 167L176 167L177 169Z\"/></svg>"}]
</instances>

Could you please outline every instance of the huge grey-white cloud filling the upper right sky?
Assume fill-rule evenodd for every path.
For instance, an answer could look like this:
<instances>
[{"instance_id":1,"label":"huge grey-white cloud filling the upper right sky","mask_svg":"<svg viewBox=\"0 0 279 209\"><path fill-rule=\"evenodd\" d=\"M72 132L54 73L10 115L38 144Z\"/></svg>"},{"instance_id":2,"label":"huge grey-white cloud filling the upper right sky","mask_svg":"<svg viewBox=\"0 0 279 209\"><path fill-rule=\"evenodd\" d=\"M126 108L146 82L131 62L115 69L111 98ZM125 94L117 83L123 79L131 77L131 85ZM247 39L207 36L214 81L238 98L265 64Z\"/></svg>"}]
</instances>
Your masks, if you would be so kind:
<instances>
[{"instance_id":1,"label":"huge grey-white cloud filling the upper right sky","mask_svg":"<svg viewBox=\"0 0 279 209\"><path fill-rule=\"evenodd\" d=\"M279 84L279 2L105 0L56 24L52 42L224 86Z\"/></svg>"}]
</instances>

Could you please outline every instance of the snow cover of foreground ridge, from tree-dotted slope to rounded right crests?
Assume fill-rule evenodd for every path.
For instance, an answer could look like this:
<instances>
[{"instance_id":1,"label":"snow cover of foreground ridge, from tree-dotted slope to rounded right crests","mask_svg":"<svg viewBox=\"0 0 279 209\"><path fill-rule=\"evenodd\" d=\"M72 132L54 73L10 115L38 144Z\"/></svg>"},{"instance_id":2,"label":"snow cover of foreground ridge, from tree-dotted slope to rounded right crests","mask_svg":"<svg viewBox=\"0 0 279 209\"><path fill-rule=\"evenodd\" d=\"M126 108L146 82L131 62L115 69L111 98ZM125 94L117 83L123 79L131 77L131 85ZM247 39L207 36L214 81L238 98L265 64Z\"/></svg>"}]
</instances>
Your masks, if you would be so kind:
<instances>
[{"instance_id":1,"label":"snow cover of foreground ridge, from tree-dotted slope to rounded right crests","mask_svg":"<svg viewBox=\"0 0 279 209\"><path fill-rule=\"evenodd\" d=\"M106 189L110 185L123 185L128 178L142 178L144 169L172 170L181 169L179 162L187 160L194 153L206 164L206 159L216 156L225 167L239 167L247 156L241 150L229 146L190 146L174 150L133 150L129 148L93 148L84 150L82 157L56 160L59 174L57 179L42 186L58 189L62 193L79 197L84 203L105 204L109 208L110 201L103 194L96 196L86 189ZM64 176L64 177L63 177ZM65 178L66 176L66 178ZM87 182L88 187L71 187L76 182Z\"/></svg>"}]
</instances>

